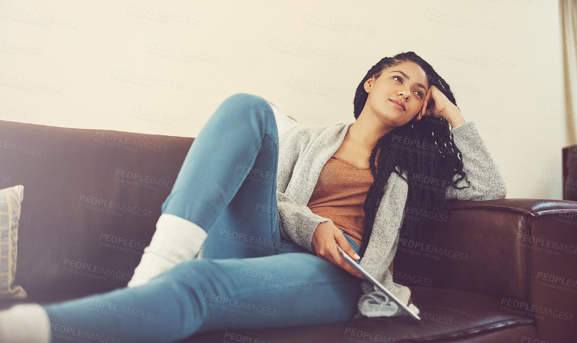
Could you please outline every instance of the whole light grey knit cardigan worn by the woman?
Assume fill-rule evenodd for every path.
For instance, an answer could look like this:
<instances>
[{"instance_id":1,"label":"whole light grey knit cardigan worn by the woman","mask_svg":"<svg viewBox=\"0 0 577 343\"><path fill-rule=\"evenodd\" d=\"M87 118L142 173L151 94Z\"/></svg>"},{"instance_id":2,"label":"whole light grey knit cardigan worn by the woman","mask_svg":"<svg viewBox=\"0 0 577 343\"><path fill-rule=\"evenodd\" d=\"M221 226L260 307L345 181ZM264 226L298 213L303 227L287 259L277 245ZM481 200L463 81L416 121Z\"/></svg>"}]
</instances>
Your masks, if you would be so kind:
<instances>
[{"instance_id":1,"label":"whole light grey knit cardigan worn by the woman","mask_svg":"<svg viewBox=\"0 0 577 343\"><path fill-rule=\"evenodd\" d=\"M320 223L332 220L314 214L306 205L316 187L321 169L343 143L351 125L353 123L338 123L332 126L295 125L279 137L276 195L280 234L282 238L290 239L311 252L314 230ZM464 122L452 129L452 135L461 151L463 170L470 185L463 189L449 185L447 199L504 199L507 196L507 187L489 148L479 135L476 122ZM403 171L403 176L407 178L406 170ZM467 182L462 180L458 187L466 185ZM360 264L404 304L408 304L410 289L396 284L389 271L398 247L408 184L398 174L391 173L384 189L373 232ZM202 252L200 256L201 254ZM405 315L368 281L361 282L361 289L365 294L359 299L359 312L354 319L362 316ZM415 314L419 313L414 304L410 304L409 308Z\"/></svg>"}]
</instances>

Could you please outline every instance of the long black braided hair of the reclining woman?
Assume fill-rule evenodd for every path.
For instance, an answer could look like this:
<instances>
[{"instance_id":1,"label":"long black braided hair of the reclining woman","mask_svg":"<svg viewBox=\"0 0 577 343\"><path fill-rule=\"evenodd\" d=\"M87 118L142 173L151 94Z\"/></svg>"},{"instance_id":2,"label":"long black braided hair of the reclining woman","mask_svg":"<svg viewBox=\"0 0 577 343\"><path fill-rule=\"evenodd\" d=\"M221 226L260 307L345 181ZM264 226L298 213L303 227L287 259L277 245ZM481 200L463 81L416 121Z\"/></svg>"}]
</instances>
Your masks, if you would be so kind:
<instances>
[{"instance_id":1,"label":"long black braided hair of the reclining woman","mask_svg":"<svg viewBox=\"0 0 577 343\"><path fill-rule=\"evenodd\" d=\"M368 98L365 81L373 76L379 77L384 69L409 61L415 62L425 71L429 87L435 85L447 99L457 105L447 82L424 59L413 51L408 51L381 59L366 73L357 87L353 100L355 118L361 114ZM369 243L376 212L391 173L396 173L406 180L409 187L400 238L432 245L438 243L443 223L447 218L446 188L449 184L458 188L456 184L465 177L460 151L455 146L448 121L443 117L429 115L423 116L419 121L415 119L416 115L407 124L398 126L380 137L370 155L370 170L374 182L365 199L365 228L359 251L361 256L365 254ZM375 157L379 148L382 149L377 171ZM400 167L400 173L396 166ZM403 170L407 171L407 178L403 177ZM453 181L455 174L459 177ZM466 187L458 189L463 188Z\"/></svg>"}]
</instances>

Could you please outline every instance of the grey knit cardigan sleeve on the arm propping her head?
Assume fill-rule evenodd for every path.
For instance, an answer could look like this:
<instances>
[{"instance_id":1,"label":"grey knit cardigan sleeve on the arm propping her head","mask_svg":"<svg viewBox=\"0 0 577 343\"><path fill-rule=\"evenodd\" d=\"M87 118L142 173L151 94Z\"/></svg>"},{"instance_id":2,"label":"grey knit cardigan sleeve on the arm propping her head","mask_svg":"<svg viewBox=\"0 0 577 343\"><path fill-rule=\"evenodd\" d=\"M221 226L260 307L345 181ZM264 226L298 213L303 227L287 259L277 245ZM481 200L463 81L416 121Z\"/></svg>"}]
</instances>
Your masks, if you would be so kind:
<instances>
[{"instance_id":1,"label":"grey knit cardigan sleeve on the arm propping her head","mask_svg":"<svg viewBox=\"0 0 577 343\"><path fill-rule=\"evenodd\" d=\"M459 148L463 171L469 180L469 188L457 189L449 184L446 199L493 200L507 196L507 186L501 176L499 166L482 139L475 121L467 121L451 130L455 145ZM457 180L455 174L453 180ZM458 182L458 187L466 187L467 181Z\"/></svg>"}]
</instances>

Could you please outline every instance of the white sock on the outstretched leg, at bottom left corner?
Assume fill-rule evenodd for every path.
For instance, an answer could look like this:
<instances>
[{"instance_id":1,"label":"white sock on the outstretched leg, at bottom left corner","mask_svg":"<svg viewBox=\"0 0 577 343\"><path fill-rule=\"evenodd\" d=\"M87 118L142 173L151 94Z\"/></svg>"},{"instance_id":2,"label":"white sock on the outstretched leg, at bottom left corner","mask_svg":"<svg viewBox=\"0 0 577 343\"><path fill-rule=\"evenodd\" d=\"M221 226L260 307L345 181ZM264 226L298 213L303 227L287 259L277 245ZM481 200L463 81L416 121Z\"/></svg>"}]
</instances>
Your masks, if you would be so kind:
<instances>
[{"instance_id":1,"label":"white sock on the outstretched leg, at bottom left corner","mask_svg":"<svg viewBox=\"0 0 577 343\"><path fill-rule=\"evenodd\" d=\"M16 304L0 311L0 342L50 343L50 319L40 304Z\"/></svg>"}]
</instances>

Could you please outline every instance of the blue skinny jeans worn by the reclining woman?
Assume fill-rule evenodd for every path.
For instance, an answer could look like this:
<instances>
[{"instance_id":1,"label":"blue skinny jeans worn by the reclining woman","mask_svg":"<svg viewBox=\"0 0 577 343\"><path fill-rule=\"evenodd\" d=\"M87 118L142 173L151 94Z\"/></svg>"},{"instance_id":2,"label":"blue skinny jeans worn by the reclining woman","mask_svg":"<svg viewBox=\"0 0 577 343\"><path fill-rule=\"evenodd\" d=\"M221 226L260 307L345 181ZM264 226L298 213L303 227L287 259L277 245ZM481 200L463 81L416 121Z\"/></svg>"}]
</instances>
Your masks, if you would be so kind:
<instances>
[{"instance_id":1,"label":"blue skinny jeans worn by the reclining woman","mask_svg":"<svg viewBox=\"0 0 577 343\"><path fill-rule=\"evenodd\" d=\"M173 188L162 205L162 213L207 231L203 259L145 285L44 305L53 343L98 341L95 335L112 343L177 342L204 331L352 319L362 280L280 237L278 151L266 100L245 93L225 99L178 173L175 183L187 191Z\"/></svg>"}]
</instances>

